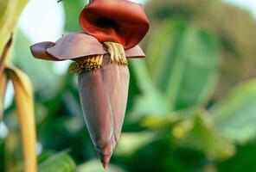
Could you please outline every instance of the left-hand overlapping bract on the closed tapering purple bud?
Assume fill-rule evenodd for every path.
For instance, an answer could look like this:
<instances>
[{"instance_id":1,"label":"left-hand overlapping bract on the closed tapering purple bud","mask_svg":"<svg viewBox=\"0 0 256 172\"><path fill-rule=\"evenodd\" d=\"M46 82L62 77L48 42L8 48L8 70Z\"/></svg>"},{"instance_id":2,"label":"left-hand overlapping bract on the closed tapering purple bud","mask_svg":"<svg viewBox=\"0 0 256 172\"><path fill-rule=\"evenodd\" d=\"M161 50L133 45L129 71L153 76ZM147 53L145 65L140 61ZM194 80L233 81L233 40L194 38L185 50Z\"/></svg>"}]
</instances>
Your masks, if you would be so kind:
<instances>
[{"instance_id":1,"label":"left-hand overlapping bract on the closed tapering purple bud","mask_svg":"<svg viewBox=\"0 0 256 172\"><path fill-rule=\"evenodd\" d=\"M111 140L114 130L111 105L100 70L79 75L79 92L93 144L102 150Z\"/></svg>"}]
</instances>

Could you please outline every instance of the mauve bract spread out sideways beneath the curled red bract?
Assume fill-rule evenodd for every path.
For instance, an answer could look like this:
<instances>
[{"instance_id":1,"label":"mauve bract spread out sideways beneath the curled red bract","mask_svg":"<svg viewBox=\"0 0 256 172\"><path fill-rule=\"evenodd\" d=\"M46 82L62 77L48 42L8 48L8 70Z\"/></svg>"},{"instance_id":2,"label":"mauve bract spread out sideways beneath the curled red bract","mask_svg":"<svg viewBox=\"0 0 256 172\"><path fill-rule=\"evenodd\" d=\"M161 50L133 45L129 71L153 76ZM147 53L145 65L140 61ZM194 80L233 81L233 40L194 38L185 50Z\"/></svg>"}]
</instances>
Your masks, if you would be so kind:
<instances>
[{"instance_id":1,"label":"mauve bract spread out sideways beneath the curled red bract","mask_svg":"<svg viewBox=\"0 0 256 172\"><path fill-rule=\"evenodd\" d=\"M92 55L106 54L106 47L88 34L67 34L54 42L41 42L30 46L35 58L61 61L66 59L84 58ZM144 52L139 46L125 51L126 58L144 58Z\"/></svg>"}]
</instances>

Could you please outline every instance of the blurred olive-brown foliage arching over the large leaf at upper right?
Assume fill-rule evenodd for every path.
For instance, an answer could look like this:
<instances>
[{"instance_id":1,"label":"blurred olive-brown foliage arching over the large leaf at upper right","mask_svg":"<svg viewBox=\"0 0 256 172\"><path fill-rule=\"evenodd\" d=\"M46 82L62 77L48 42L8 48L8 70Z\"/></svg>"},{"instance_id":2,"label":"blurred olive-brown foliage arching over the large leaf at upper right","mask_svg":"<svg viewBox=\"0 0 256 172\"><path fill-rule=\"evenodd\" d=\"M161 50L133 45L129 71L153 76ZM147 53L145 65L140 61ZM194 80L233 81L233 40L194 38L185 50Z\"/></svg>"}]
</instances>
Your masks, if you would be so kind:
<instances>
[{"instance_id":1,"label":"blurred olive-brown foliage arching over the large leaf at upper right","mask_svg":"<svg viewBox=\"0 0 256 172\"><path fill-rule=\"evenodd\" d=\"M234 84L256 76L256 22L248 11L221 0L152 0L146 4L146 12L151 21L150 32L156 32L162 22L179 19L208 28L218 37L221 82L214 99L219 99Z\"/></svg>"}]
</instances>

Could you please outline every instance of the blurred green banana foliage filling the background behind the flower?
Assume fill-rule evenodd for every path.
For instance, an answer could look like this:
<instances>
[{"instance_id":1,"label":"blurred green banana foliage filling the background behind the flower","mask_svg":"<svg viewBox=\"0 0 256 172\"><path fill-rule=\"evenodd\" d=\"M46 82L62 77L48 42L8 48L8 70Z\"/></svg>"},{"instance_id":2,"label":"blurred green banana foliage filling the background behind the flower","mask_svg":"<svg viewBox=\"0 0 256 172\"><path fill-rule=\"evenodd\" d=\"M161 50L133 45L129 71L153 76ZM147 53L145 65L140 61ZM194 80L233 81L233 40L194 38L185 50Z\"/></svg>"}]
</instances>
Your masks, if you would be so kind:
<instances>
[{"instance_id":1,"label":"blurred green banana foliage filling the background behind the flower","mask_svg":"<svg viewBox=\"0 0 256 172\"><path fill-rule=\"evenodd\" d=\"M81 2L63 1L67 32L80 32ZM130 60L125 124L107 171L255 171L252 16L217 0L152 0L146 12L147 58ZM79 172L103 170L83 122L76 76L54 73L53 63L32 58L29 46L19 32L13 63L35 85L39 167L73 171L75 162ZM13 113L12 105L4 118L12 129ZM1 157L9 141L0 140ZM66 149L69 156L54 154Z\"/></svg>"}]
</instances>

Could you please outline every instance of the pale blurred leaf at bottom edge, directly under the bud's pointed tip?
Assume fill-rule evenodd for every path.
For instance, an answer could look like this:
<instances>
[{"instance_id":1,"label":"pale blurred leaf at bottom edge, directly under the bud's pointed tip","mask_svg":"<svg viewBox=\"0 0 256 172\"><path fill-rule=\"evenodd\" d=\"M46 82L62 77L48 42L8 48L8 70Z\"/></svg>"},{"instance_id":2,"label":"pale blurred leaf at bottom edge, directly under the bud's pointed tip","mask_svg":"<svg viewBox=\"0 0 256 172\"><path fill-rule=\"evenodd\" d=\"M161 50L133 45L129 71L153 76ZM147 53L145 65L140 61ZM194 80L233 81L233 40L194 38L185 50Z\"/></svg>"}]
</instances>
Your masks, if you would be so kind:
<instances>
[{"instance_id":1,"label":"pale blurred leaf at bottom edge, directly under the bud's pointed tip","mask_svg":"<svg viewBox=\"0 0 256 172\"><path fill-rule=\"evenodd\" d=\"M80 165L77 168L77 172L86 172L86 171L90 171L90 172L99 172L99 171L125 172L124 169L121 169L118 166L112 165L112 164L109 164L107 169L104 170L102 168L102 165L99 162L99 160L91 160L87 163L84 163L84 164Z\"/></svg>"}]
</instances>

